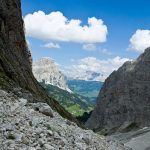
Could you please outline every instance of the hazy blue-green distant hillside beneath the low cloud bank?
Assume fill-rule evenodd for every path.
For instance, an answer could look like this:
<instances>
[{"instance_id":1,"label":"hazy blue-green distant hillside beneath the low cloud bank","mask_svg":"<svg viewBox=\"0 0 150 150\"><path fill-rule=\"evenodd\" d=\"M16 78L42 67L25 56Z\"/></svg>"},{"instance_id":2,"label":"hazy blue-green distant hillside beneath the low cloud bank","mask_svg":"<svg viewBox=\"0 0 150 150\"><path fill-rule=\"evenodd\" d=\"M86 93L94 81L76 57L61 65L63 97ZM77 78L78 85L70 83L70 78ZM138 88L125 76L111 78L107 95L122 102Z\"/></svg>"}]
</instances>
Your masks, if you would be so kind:
<instances>
[{"instance_id":1,"label":"hazy blue-green distant hillside beneath the low cloud bank","mask_svg":"<svg viewBox=\"0 0 150 150\"><path fill-rule=\"evenodd\" d=\"M67 83L74 93L87 97L94 105L103 85L103 82L85 80L68 80Z\"/></svg>"}]
</instances>

